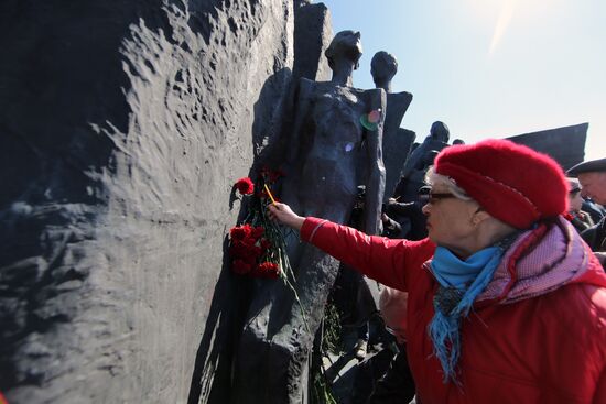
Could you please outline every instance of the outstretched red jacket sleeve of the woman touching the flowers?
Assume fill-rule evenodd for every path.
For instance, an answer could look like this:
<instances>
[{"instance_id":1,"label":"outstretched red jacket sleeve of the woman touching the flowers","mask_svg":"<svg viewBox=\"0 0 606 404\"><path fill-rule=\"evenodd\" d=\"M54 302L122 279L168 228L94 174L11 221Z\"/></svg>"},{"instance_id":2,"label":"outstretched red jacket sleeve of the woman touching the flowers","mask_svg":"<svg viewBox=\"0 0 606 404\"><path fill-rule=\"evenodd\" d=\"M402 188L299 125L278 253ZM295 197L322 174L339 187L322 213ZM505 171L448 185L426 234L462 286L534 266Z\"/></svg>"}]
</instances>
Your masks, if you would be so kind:
<instances>
[{"instance_id":1,"label":"outstretched red jacket sleeve of the woman touching the flowers","mask_svg":"<svg viewBox=\"0 0 606 404\"><path fill-rule=\"evenodd\" d=\"M408 285L414 284L414 276L423 271L423 263L435 251L435 244L429 239L409 241L368 236L312 217L305 219L301 239L368 277L400 291L408 291Z\"/></svg>"}]
</instances>

